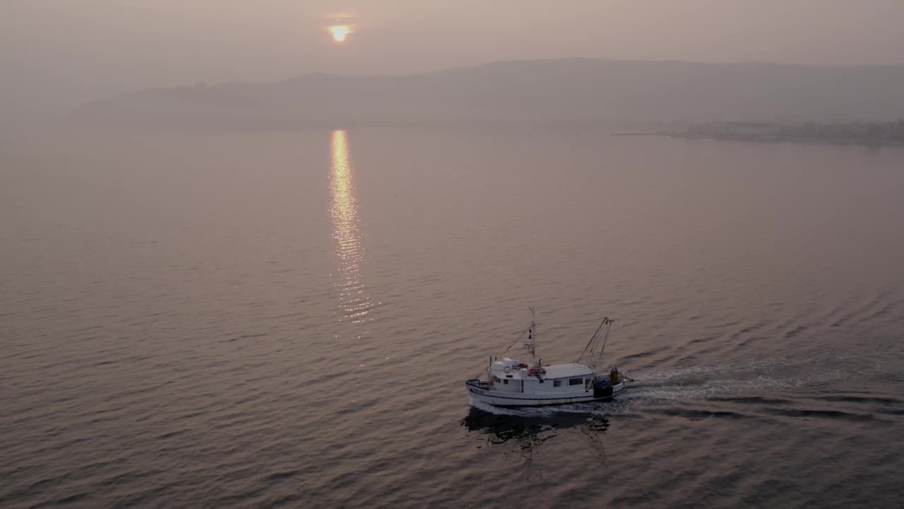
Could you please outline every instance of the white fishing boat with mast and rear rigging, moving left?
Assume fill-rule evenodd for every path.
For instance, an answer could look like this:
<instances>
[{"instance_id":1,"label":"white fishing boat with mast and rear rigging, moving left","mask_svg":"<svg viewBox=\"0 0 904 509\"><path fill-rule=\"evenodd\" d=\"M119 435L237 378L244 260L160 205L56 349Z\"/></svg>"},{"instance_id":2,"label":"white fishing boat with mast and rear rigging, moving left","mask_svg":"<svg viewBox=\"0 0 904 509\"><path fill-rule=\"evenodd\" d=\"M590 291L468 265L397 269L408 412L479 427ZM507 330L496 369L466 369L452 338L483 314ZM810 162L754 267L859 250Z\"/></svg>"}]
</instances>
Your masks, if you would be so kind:
<instances>
[{"instance_id":1,"label":"white fishing boat with mast and rear rigging, moving left","mask_svg":"<svg viewBox=\"0 0 904 509\"><path fill-rule=\"evenodd\" d=\"M537 359L536 313L531 308L531 326L524 331L527 339L523 336L519 338L523 350L531 356L530 362L491 356L486 367L486 379L478 376L465 382L471 403L481 402L496 407L541 407L612 399L625 389L626 382L632 381L615 366L605 374L597 370L606 350L612 322L610 318L602 320L578 360L543 364L541 359ZM505 351L511 350L519 340L515 340Z\"/></svg>"}]
</instances>

